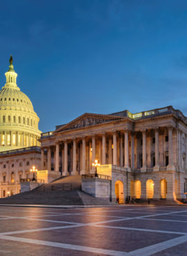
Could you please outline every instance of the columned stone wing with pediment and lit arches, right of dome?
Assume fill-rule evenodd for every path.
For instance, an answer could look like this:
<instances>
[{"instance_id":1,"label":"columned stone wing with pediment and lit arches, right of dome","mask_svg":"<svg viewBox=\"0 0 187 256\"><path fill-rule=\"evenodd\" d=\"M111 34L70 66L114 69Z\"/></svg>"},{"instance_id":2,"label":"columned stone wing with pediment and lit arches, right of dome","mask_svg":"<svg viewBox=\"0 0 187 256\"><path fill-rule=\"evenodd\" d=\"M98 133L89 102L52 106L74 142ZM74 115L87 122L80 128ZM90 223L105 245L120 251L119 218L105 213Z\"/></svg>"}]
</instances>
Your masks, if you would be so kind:
<instances>
[{"instance_id":1,"label":"columned stone wing with pediment and lit arches, right of dome","mask_svg":"<svg viewBox=\"0 0 187 256\"><path fill-rule=\"evenodd\" d=\"M132 114L85 113L42 134L42 166L62 175L112 169L112 198L186 198L187 118L172 106ZM123 193L121 192L123 191Z\"/></svg>"}]
</instances>

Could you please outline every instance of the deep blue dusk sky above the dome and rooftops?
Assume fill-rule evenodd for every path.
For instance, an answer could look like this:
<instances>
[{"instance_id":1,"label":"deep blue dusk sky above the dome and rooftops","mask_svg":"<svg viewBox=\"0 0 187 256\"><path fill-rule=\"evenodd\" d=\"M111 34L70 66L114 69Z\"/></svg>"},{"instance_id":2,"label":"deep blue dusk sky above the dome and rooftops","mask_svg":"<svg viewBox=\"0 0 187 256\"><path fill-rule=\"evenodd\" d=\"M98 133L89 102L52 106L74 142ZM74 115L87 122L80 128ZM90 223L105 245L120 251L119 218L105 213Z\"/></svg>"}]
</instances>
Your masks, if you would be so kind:
<instances>
[{"instance_id":1,"label":"deep blue dusk sky above the dome and rooftops","mask_svg":"<svg viewBox=\"0 0 187 256\"><path fill-rule=\"evenodd\" d=\"M187 115L187 1L0 3L0 84L17 84L49 131L84 112L173 105Z\"/></svg>"}]
</instances>

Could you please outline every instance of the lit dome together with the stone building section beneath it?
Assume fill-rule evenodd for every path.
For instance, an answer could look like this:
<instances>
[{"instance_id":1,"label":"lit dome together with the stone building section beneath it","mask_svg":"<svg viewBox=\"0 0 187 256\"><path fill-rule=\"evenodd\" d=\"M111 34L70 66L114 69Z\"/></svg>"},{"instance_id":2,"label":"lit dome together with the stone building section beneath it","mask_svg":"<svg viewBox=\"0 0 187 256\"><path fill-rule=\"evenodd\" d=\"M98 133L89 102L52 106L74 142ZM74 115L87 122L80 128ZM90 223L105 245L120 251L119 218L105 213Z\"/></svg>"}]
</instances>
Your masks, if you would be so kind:
<instances>
[{"instance_id":1,"label":"lit dome together with the stone building section beneath it","mask_svg":"<svg viewBox=\"0 0 187 256\"><path fill-rule=\"evenodd\" d=\"M30 99L17 86L12 65L0 91L0 198L20 191L20 180L32 178L30 168L41 159L39 118Z\"/></svg>"}]
</instances>

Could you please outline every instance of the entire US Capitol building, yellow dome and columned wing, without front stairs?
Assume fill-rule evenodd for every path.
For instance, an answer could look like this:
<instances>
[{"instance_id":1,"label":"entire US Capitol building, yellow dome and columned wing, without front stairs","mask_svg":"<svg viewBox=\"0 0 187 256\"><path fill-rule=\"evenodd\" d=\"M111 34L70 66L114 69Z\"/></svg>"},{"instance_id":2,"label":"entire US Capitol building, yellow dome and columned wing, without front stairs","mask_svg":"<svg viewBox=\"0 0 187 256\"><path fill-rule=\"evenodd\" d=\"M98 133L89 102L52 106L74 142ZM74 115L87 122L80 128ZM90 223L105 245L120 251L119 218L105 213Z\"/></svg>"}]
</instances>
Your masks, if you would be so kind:
<instances>
[{"instance_id":1,"label":"entire US Capitol building, yellow dome and columned wing, without front stairs","mask_svg":"<svg viewBox=\"0 0 187 256\"><path fill-rule=\"evenodd\" d=\"M0 197L19 193L19 181L35 165L37 177L82 175L83 191L114 202L186 198L187 118L181 111L84 113L41 134L16 78L10 60L0 92ZM97 170L93 163L100 163Z\"/></svg>"}]
</instances>

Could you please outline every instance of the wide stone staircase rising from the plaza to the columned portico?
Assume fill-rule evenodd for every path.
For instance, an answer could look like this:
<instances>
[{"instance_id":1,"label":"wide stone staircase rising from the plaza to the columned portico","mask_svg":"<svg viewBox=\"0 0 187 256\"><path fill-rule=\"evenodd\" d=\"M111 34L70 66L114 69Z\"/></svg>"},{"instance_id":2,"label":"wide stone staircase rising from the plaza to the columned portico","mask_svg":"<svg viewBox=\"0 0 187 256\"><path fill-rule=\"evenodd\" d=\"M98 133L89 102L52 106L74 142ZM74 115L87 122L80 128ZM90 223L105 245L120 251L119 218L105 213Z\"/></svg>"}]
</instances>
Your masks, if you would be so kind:
<instances>
[{"instance_id":1,"label":"wide stone staircase rising from the plaza to the columned portico","mask_svg":"<svg viewBox=\"0 0 187 256\"><path fill-rule=\"evenodd\" d=\"M0 205L112 205L81 191L81 175L55 179L32 191L0 198Z\"/></svg>"}]
</instances>

